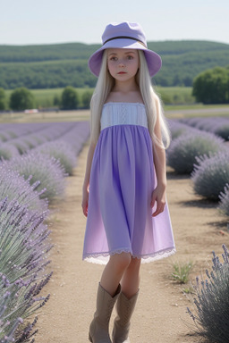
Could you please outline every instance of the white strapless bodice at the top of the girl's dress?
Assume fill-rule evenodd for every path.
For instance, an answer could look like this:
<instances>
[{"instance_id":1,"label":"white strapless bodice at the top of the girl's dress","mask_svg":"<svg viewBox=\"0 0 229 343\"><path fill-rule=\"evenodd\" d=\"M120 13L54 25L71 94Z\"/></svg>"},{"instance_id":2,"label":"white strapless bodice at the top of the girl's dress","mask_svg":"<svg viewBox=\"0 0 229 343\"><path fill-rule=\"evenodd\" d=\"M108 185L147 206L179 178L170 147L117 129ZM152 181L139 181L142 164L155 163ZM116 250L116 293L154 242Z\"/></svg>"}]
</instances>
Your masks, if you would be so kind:
<instances>
[{"instance_id":1,"label":"white strapless bodice at the top of the girl's dress","mask_svg":"<svg viewBox=\"0 0 229 343\"><path fill-rule=\"evenodd\" d=\"M114 125L140 125L148 128L145 105L140 103L106 103L101 115L101 130Z\"/></svg>"}]
</instances>

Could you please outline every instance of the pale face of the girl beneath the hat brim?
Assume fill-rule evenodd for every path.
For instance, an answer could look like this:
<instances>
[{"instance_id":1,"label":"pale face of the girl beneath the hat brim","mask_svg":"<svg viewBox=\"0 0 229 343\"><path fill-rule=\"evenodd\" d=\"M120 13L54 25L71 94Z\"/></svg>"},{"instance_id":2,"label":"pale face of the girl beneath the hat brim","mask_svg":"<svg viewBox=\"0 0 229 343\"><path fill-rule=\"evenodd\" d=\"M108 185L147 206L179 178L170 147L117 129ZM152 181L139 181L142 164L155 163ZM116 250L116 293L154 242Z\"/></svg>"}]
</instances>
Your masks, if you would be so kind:
<instances>
[{"instance_id":1,"label":"pale face of the girl beneath the hat brim","mask_svg":"<svg viewBox=\"0 0 229 343\"><path fill-rule=\"evenodd\" d=\"M119 81L133 79L139 70L140 58L135 49L108 49L107 67L111 76Z\"/></svg>"}]
</instances>

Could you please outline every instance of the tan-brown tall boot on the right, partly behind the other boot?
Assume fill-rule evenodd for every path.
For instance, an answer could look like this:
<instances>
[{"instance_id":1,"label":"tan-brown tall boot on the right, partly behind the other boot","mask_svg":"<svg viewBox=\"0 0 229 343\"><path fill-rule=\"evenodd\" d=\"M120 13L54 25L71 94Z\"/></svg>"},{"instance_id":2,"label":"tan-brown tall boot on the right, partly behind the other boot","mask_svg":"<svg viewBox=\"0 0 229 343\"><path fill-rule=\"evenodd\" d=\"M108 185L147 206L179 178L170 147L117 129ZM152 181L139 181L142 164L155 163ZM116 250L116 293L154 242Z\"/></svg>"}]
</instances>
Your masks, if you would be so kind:
<instances>
[{"instance_id":1,"label":"tan-brown tall boot on the right, partly behind the other boot","mask_svg":"<svg viewBox=\"0 0 229 343\"><path fill-rule=\"evenodd\" d=\"M122 292L120 293L116 304L117 316L114 319L114 329L112 332L113 343L130 343L128 335L131 327L131 315L133 314L138 296L139 291L130 299L125 297Z\"/></svg>"}]
</instances>

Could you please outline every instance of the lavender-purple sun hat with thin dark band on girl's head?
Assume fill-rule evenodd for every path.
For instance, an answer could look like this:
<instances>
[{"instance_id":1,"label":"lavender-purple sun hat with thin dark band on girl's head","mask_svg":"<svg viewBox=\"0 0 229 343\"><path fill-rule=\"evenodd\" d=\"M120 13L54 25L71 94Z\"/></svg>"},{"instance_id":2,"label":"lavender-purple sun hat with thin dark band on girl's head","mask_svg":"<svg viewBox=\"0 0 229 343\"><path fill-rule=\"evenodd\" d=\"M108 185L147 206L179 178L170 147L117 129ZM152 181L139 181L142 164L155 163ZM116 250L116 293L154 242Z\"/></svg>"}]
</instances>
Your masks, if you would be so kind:
<instances>
[{"instance_id":1,"label":"lavender-purple sun hat with thin dark band on girl's head","mask_svg":"<svg viewBox=\"0 0 229 343\"><path fill-rule=\"evenodd\" d=\"M151 77L161 68L161 57L154 51L148 50L145 34L137 22L123 21L108 24L102 35L102 42L103 46L89 57L89 70L96 76L99 75L104 50L109 48L142 50Z\"/></svg>"}]
</instances>

